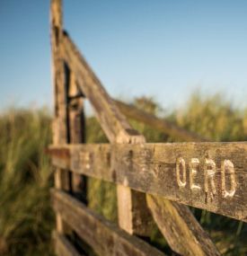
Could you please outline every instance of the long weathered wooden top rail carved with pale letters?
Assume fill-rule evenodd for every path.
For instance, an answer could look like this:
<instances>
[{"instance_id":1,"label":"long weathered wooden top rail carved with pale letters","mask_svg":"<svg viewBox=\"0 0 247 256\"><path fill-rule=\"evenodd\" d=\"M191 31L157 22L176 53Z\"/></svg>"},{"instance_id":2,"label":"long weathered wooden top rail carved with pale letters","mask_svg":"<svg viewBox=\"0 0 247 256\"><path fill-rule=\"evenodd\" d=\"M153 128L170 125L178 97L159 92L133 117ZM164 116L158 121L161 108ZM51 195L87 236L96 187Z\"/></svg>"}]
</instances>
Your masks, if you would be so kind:
<instances>
[{"instance_id":1,"label":"long weathered wooden top rail carved with pale letters","mask_svg":"<svg viewBox=\"0 0 247 256\"><path fill-rule=\"evenodd\" d=\"M51 146L52 163L247 221L247 143Z\"/></svg>"}]
</instances>

